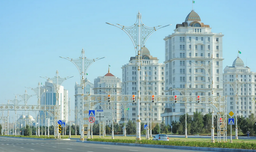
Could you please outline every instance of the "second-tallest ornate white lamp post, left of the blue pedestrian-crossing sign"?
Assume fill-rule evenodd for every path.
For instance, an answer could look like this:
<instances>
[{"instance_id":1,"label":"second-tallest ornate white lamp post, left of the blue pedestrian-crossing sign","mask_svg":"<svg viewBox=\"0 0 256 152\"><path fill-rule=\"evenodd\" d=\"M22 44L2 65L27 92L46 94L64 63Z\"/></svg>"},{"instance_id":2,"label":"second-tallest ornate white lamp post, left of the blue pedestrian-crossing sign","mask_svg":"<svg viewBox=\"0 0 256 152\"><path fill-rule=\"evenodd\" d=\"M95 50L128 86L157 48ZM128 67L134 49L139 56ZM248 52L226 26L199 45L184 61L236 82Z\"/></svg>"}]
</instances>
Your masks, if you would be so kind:
<instances>
[{"instance_id":1,"label":"second-tallest ornate white lamp post, left of the blue pedestrian-crossing sign","mask_svg":"<svg viewBox=\"0 0 256 152\"><path fill-rule=\"evenodd\" d=\"M60 58L63 58L60 56ZM103 57L105 58L105 57ZM81 55L79 58L77 59L72 59L72 58L64 58L69 60L70 62L72 62L73 64L75 64L76 68L78 69L78 72L80 74L80 79L81 79L81 85L82 85L82 94L81 94L81 98L82 98L82 119L81 119L81 123L82 123L82 128L81 129L81 138L80 140L84 140L84 112L90 110L90 103L89 103L89 108L86 110L84 110L84 84L85 84L85 78L86 78L86 72L88 70L88 68L92 65L93 62L100 60L102 58L95 58L95 59L88 59L86 58L86 56L84 55L84 48L81 51ZM88 122L88 138L90 138L90 122L88 120L85 120Z\"/></svg>"}]
</instances>

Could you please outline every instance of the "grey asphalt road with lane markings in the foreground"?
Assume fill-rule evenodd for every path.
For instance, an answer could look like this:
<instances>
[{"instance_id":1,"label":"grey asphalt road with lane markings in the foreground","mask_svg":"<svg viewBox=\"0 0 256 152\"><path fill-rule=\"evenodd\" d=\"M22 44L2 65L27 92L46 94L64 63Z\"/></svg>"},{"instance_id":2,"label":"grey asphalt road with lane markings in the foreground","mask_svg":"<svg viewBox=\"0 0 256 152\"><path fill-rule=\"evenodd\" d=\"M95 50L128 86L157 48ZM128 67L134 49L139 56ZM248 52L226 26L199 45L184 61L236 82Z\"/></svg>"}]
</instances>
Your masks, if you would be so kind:
<instances>
[{"instance_id":1,"label":"grey asphalt road with lane markings in the foreground","mask_svg":"<svg viewBox=\"0 0 256 152\"><path fill-rule=\"evenodd\" d=\"M146 148L106 144L90 144L76 140L36 140L0 137L0 152L204 152L196 150L176 150ZM209 151L208 151L209 152Z\"/></svg>"}]
</instances>

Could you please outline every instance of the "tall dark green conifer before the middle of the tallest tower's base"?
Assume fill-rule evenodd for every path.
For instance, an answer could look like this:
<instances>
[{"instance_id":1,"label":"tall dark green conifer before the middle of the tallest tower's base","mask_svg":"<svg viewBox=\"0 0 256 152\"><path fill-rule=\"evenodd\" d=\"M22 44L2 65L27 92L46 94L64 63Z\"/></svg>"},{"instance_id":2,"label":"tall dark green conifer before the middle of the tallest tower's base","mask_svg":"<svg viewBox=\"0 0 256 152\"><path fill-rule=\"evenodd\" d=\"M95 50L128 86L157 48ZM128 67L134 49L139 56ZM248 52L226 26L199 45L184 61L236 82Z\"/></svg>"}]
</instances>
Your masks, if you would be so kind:
<instances>
[{"instance_id":1,"label":"tall dark green conifer before the middle of the tallest tower's base","mask_svg":"<svg viewBox=\"0 0 256 152\"><path fill-rule=\"evenodd\" d=\"M203 121L202 113L194 112L191 129L190 129L191 134L202 132L203 127L204 127L204 121Z\"/></svg>"}]
</instances>

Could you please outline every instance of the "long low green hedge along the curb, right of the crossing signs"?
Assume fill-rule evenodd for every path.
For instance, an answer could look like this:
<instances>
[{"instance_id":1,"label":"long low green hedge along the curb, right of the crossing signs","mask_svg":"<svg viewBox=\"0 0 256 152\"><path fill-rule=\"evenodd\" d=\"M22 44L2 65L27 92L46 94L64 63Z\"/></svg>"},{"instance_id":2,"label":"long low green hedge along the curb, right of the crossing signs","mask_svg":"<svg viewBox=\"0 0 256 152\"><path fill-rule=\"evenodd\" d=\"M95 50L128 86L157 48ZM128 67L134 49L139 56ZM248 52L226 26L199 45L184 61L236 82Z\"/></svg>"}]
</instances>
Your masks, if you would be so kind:
<instances>
[{"instance_id":1,"label":"long low green hedge along the curb, right of the crossing signs","mask_svg":"<svg viewBox=\"0 0 256 152\"><path fill-rule=\"evenodd\" d=\"M224 143L224 142L179 142L179 141L156 141L156 140L124 140L124 139L87 139L95 142L119 142L119 143L136 143L136 144L155 144L168 146L190 146L190 147L209 147L209 148L234 148L234 149L250 149L256 150L254 143Z\"/></svg>"}]
</instances>

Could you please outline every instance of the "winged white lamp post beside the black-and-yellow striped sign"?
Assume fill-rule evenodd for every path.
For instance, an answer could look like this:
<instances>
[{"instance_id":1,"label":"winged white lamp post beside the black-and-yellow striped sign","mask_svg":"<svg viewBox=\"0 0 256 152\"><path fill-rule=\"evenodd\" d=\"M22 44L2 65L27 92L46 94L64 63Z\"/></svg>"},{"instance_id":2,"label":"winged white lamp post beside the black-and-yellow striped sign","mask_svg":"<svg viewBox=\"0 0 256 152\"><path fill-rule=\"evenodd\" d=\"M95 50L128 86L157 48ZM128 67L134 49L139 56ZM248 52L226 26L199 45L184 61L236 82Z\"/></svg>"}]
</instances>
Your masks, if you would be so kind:
<instances>
[{"instance_id":1,"label":"winged white lamp post beside the black-and-yellow striped sign","mask_svg":"<svg viewBox=\"0 0 256 152\"><path fill-rule=\"evenodd\" d=\"M53 77L53 78L48 78L48 77L42 77L42 76L40 76L41 78L46 78L47 80L49 80L50 82L52 82L52 84L53 84L53 86L54 86L54 88L55 88L55 90L56 90L56 107L57 107L57 114L55 114L55 117L54 117L54 120L55 120L55 118L56 118L56 115L57 115L57 119L59 119L59 116L60 116L60 114L59 114L59 90L60 90L60 86L61 86L61 84L65 81L65 80L67 80L67 79L69 79L69 78L72 78L73 76L71 76L71 77L66 77L66 78L61 78L60 76L59 76L59 72L58 72L58 70L56 71L56 75ZM61 118L61 117L60 117ZM55 121L55 125L54 125L54 130L55 130L55 132L57 133L57 138L59 138L60 136L59 136L59 133L58 133L58 127L56 127L56 125L57 125L57 121ZM56 130L57 129L57 130ZM56 134L54 134L54 137L56 137Z\"/></svg>"}]
</instances>

